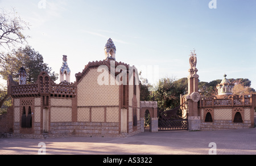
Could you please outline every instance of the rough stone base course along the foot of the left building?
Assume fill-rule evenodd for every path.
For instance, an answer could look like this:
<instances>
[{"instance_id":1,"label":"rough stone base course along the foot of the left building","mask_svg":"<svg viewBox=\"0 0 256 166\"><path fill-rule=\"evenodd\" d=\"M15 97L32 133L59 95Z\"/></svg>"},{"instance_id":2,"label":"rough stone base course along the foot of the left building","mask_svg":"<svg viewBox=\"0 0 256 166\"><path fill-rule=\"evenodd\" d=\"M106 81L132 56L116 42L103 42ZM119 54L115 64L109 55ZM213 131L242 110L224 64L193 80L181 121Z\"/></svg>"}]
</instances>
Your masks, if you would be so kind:
<instances>
[{"instance_id":1,"label":"rough stone base course along the foot of the left building","mask_svg":"<svg viewBox=\"0 0 256 166\"><path fill-rule=\"evenodd\" d=\"M133 130L133 124L129 123L129 133L119 133L119 123L116 122L52 122L48 134L41 134L40 126L36 124L34 134L2 131L0 138L130 137L142 132L140 124L138 121L137 129Z\"/></svg>"}]
</instances>

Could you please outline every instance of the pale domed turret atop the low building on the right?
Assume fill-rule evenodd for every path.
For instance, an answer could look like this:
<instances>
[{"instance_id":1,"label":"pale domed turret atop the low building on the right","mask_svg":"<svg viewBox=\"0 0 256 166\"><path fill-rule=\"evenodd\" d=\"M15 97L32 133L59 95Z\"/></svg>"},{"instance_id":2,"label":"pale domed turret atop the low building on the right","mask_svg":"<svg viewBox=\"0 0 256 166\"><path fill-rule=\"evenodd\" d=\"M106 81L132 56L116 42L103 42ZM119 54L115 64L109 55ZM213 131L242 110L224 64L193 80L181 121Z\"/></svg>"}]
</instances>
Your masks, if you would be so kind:
<instances>
[{"instance_id":1,"label":"pale domed turret atop the low building on the right","mask_svg":"<svg viewBox=\"0 0 256 166\"><path fill-rule=\"evenodd\" d=\"M233 94L234 84L226 79L226 74L224 79L222 79L220 84L217 84L218 95L232 95Z\"/></svg>"}]
</instances>

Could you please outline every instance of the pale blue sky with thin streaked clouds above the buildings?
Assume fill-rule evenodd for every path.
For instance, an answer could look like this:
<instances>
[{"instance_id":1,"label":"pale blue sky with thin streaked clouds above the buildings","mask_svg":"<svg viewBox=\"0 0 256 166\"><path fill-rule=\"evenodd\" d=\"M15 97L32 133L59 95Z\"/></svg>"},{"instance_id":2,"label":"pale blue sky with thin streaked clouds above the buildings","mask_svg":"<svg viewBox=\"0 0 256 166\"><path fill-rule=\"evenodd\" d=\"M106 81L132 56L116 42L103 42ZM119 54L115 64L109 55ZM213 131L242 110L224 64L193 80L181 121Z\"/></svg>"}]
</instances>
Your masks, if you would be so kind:
<instances>
[{"instance_id":1,"label":"pale blue sky with thin streaked clouds above the buildings","mask_svg":"<svg viewBox=\"0 0 256 166\"><path fill-rule=\"evenodd\" d=\"M256 1L210 2L0 0L0 8L14 7L31 24L28 45L52 71L59 73L62 56L68 56L71 82L88 62L105 59L104 46L112 38L117 61L143 69L144 77L150 68L143 66L158 67L158 78L187 77L189 54L195 49L200 81L226 74L248 78L256 89Z\"/></svg>"}]
</instances>

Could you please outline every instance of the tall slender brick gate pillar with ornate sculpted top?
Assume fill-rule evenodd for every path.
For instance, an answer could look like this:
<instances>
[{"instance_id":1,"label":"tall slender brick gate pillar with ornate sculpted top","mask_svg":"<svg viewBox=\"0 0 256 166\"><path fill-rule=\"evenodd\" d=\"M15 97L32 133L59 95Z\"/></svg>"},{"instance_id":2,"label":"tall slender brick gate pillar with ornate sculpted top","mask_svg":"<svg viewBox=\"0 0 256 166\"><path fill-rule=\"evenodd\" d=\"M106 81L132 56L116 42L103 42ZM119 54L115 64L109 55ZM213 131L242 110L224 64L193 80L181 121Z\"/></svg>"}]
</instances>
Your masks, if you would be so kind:
<instances>
[{"instance_id":1,"label":"tall slender brick gate pillar with ornate sculpted top","mask_svg":"<svg viewBox=\"0 0 256 166\"><path fill-rule=\"evenodd\" d=\"M200 94L198 92L198 78L199 75L196 69L196 53L195 50L191 52L189 57L190 69L188 70L188 130L200 130L201 118L198 108L198 101L200 100Z\"/></svg>"}]
</instances>

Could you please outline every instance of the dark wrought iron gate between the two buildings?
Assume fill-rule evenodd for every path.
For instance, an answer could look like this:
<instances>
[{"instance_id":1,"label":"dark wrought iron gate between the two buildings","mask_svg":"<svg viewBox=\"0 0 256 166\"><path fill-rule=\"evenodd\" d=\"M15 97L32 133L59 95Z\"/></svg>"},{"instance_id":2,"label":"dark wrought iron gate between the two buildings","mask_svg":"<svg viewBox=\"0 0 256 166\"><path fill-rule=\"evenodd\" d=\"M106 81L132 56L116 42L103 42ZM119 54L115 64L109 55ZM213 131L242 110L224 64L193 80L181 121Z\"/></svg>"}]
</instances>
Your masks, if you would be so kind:
<instances>
[{"instance_id":1,"label":"dark wrought iron gate between the two buildings","mask_svg":"<svg viewBox=\"0 0 256 166\"><path fill-rule=\"evenodd\" d=\"M188 130L188 101L174 109L158 110L158 130Z\"/></svg>"}]
</instances>

